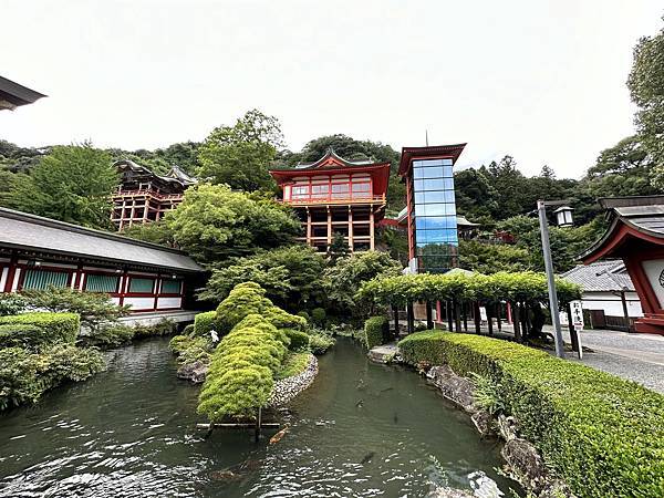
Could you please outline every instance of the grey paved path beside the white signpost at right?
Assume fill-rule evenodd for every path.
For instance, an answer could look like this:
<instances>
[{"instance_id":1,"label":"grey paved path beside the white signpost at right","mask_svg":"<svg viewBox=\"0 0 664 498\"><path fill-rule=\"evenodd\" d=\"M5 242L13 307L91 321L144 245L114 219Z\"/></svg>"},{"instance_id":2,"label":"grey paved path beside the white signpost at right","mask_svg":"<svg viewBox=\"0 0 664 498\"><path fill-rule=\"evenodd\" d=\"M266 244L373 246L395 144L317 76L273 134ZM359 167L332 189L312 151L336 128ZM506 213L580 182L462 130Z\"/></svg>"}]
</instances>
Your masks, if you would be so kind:
<instances>
[{"instance_id":1,"label":"grey paved path beside the white signpost at right","mask_svg":"<svg viewBox=\"0 0 664 498\"><path fill-rule=\"evenodd\" d=\"M569 342L569 333L562 333ZM611 330L587 330L581 334L581 343L593 350L583 354L583 364L664 394L664 336ZM568 353L568 359L575 357L575 353Z\"/></svg>"}]
</instances>

